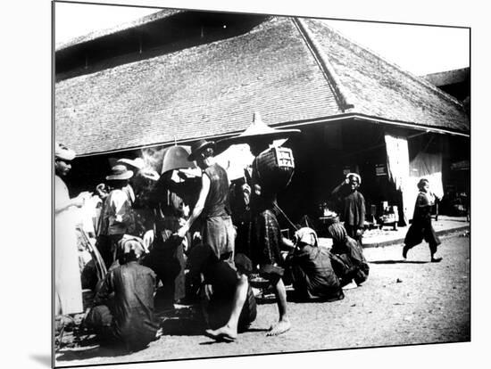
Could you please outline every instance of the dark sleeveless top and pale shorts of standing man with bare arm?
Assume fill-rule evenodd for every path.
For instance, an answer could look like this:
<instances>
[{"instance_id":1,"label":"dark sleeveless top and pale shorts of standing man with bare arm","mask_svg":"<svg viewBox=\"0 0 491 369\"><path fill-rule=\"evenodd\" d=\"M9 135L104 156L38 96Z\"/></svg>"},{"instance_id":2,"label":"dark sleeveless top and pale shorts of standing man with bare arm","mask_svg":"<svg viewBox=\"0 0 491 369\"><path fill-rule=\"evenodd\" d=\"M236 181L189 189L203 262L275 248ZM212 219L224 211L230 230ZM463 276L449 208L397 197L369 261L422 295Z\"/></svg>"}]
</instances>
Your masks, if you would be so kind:
<instances>
[{"instance_id":1,"label":"dark sleeveless top and pale shorts of standing man with bare arm","mask_svg":"<svg viewBox=\"0 0 491 369\"><path fill-rule=\"evenodd\" d=\"M204 169L210 178L210 190L204 201L203 242L212 247L217 258L227 258L234 252L235 230L230 217L229 178L218 164Z\"/></svg>"}]
</instances>

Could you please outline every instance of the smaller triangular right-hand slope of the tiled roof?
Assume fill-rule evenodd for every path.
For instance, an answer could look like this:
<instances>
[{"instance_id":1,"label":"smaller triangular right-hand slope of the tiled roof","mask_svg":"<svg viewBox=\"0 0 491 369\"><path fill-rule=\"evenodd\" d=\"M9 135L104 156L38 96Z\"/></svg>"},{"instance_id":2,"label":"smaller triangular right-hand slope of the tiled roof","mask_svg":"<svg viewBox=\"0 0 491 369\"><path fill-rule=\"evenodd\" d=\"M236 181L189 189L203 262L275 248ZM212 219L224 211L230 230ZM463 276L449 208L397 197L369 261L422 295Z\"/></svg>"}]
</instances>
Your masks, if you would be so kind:
<instances>
[{"instance_id":1,"label":"smaller triangular right-hand slope of the tiled roof","mask_svg":"<svg viewBox=\"0 0 491 369\"><path fill-rule=\"evenodd\" d=\"M462 103L375 53L330 29L323 21L307 20L313 37L345 89L351 92L353 111L427 127L469 131Z\"/></svg>"}]
</instances>

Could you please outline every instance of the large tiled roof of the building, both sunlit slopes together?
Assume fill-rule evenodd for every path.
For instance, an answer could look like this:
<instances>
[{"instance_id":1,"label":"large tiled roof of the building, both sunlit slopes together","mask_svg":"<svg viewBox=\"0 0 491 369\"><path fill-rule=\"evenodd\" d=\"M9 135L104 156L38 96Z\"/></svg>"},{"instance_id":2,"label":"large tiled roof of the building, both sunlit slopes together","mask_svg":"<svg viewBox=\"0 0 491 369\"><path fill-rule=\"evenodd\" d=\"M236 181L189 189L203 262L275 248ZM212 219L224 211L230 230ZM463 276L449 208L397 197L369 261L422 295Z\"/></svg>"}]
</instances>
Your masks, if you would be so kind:
<instances>
[{"instance_id":1,"label":"large tiled roof of the building, both sunlit slopes together","mask_svg":"<svg viewBox=\"0 0 491 369\"><path fill-rule=\"evenodd\" d=\"M356 113L469 130L462 105L435 86L321 21L304 24L336 78L292 19L273 17L241 36L57 82L55 138L89 154L231 134L254 111L271 126L342 114L339 91Z\"/></svg>"}]
</instances>

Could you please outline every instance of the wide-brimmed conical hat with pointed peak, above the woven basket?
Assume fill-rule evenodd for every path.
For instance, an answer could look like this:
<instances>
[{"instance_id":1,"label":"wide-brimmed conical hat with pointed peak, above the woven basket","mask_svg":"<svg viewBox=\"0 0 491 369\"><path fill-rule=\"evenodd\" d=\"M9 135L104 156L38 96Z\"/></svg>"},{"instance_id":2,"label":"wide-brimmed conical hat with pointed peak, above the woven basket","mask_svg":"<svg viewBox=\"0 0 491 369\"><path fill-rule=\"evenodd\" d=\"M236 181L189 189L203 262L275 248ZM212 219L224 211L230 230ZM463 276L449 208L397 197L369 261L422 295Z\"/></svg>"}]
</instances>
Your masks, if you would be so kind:
<instances>
[{"instance_id":1,"label":"wide-brimmed conical hat with pointed peak, above the woven basket","mask_svg":"<svg viewBox=\"0 0 491 369\"><path fill-rule=\"evenodd\" d=\"M240 135L225 138L217 143L218 151L225 150L231 144L254 143L255 140L268 141L286 139L300 133L300 129L277 129L272 128L262 122L258 112L254 112L253 123Z\"/></svg>"}]
</instances>

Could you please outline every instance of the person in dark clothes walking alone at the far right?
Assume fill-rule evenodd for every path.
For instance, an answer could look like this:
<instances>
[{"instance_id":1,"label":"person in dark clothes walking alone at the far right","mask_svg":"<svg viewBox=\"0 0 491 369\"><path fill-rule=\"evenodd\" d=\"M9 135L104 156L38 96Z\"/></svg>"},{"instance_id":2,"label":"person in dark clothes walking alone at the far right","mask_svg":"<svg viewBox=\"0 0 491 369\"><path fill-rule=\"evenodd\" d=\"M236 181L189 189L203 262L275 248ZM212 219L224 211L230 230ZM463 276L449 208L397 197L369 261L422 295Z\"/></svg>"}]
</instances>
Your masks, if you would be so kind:
<instances>
[{"instance_id":1,"label":"person in dark clothes walking alone at the far right","mask_svg":"<svg viewBox=\"0 0 491 369\"><path fill-rule=\"evenodd\" d=\"M431 207L435 204L435 195L429 191L429 181L421 178L418 183L420 193L416 199L414 215L412 216L412 225L407 231L404 239L403 257L407 257L407 251L412 247L420 244L423 240L428 242L431 253L431 262L437 263L442 258L435 258L437 246L441 243L433 225L431 225Z\"/></svg>"}]
</instances>

